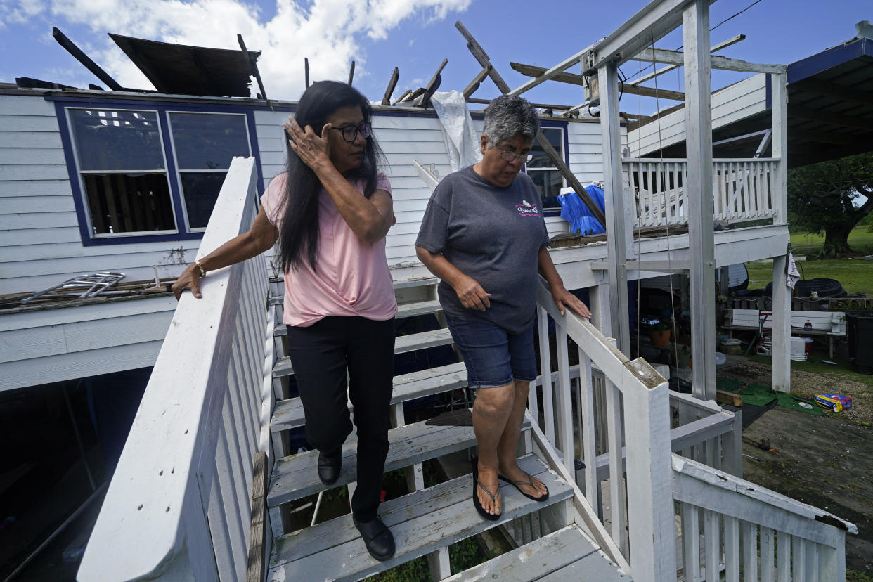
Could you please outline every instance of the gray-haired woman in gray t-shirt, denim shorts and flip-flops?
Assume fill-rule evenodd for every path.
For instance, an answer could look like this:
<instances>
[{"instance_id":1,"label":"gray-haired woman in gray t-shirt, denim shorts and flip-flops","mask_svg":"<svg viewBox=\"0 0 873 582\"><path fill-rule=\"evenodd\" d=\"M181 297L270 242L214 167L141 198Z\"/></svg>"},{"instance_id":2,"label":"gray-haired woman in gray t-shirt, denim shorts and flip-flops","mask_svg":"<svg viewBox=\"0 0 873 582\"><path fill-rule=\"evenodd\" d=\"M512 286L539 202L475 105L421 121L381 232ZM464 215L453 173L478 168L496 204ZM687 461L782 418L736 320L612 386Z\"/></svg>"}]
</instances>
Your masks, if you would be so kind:
<instances>
[{"instance_id":1,"label":"gray-haired woman in gray t-shirt, denim shorts and flip-flops","mask_svg":"<svg viewBox=\"0 0 873 582\"><path fill-rule=\"evenodd\" d=\"M526 174L540 130L526 99L503 95L485 109L482 161L436 186L416 240L419 260L440 278L438 288L452 339L477 389L473 430L473 504L498 520L499 480L544 501L546 485L516 462L530 383L537 377L533 322L539 271L563 314L584 318L588 307L564 288L546 245L540 194Z\"/></svg>"}]
</instances>

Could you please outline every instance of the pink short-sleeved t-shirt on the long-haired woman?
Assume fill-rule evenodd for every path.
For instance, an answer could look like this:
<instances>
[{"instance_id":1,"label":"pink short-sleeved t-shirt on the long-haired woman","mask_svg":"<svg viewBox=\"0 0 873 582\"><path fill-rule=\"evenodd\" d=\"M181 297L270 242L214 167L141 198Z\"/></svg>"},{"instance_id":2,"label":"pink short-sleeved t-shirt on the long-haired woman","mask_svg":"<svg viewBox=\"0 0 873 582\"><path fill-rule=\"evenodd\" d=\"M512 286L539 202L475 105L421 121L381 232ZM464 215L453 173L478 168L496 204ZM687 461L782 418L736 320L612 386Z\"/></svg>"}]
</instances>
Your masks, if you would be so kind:
<instances>
[{"instance_id":1,"label":"pink short-sleeved t-shirt on the long-haired woman","mask_svg":"<svg viewBox=\"0 0 873 582\"><path fill-rule=\"evenodd\" d=\"M285 181L279 174L261 196L267 218L279 230L285 212ZM363 195L364 180L349 181ZM390 194L388 176L379 173L376 189ZM385 239L361 243L336 208L327 190L319 192L319 248L316 268L304 260L285 272L287 325L306 327L328 316L355 316L384 320L397 312L394 285L385 258Z\"/></svg>"}]
</instances>

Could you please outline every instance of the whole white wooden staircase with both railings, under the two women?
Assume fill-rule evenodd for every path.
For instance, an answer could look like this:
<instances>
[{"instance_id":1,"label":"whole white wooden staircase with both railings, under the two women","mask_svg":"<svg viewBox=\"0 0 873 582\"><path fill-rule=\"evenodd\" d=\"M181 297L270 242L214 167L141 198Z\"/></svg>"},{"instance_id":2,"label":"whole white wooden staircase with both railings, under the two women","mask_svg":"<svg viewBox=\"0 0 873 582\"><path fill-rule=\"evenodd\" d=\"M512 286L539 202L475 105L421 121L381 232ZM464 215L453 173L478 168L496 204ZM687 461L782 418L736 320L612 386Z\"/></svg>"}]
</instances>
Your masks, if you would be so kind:
<instances>
[{"instance_id":1,"label":"whole white wooden staircase with both railings, under the two women","mask_svg":"<svg viewBox=\"0 0 873 582\"><path fill-rule=\"evenodd\" d=\"M256 184L254 160L235 158L200 257L250 228ZM420 556L436 579L454 580L845 579L845 535L855 525L744 481L739 415L671 393L643 359L625 357L588 321L560 315L544 282L541 386L528 400L520 464L548 485L546 503L503 487L504 517L485 522L469 474L424 487L422 462L474 446L469 426L404 420L404 401L465 385L463 366L451 364L395 378L386 469L405 469L410 491L380 510L395 558L370 558L348 515L284 531L281 506L324 486L316 453L293 455L282 437L304 419L279 391L292 369L276 349L280 302L268 287L265 259L254 257L210 272L202 299L182 297L82 582L361 579ZM432 297L418 299L402 315L436 310ZM398 339L397 352L449 341L444 330L413 334ZM334 487L354 479L354 449L353 436ZM499 526L519 547L450 576L448 546Z\"/></svg>"}]
</instances>

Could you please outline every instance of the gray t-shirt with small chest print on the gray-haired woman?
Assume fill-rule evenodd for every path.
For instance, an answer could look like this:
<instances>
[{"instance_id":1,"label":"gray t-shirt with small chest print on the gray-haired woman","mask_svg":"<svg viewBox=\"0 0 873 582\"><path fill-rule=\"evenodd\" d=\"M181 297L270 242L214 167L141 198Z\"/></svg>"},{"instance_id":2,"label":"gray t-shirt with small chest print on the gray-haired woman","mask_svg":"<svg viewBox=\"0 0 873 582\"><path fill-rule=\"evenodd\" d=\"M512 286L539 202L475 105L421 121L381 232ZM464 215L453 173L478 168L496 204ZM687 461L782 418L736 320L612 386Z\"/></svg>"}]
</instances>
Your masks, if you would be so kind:
<instances>
[{"instance_id":1,"label":"gray t-shirt with small chest print on the gray-haired woman","mask_svg":"<svg viewBox=\"0 0 873 582\"><path fill-rule=\"evenodd\" d=\"M533 181L519 174L506 188L471 167L443 178L430 196L416 245L441 253L491 293L485 312L466 309L446 283L438 288L450 317L481 318L519 333L533 323L537 254L548 244L542 202Z\"/></svg>"}]
</instances>

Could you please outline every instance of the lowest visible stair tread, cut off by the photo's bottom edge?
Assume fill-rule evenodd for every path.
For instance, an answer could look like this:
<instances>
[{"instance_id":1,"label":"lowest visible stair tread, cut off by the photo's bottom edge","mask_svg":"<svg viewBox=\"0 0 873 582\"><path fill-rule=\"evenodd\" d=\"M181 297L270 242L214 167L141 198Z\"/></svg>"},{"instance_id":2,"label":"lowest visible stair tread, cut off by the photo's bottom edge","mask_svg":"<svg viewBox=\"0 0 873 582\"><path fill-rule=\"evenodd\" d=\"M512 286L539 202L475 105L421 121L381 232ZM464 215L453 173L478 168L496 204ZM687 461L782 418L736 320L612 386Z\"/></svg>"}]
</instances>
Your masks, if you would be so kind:
<instances>
[{"instance_id":1,"label":"lowest visible stair tread, cut off by the photo's bottom edge","mask_svg":"<svg viewBox=\"0 0 873 582\"><path fill-rule=\"evenodd\" d=\"M629 580L578 526L554 531L512 551L458 572L443 582L559 582Z\"/></svg>"}]
</instances>

